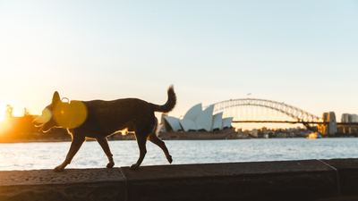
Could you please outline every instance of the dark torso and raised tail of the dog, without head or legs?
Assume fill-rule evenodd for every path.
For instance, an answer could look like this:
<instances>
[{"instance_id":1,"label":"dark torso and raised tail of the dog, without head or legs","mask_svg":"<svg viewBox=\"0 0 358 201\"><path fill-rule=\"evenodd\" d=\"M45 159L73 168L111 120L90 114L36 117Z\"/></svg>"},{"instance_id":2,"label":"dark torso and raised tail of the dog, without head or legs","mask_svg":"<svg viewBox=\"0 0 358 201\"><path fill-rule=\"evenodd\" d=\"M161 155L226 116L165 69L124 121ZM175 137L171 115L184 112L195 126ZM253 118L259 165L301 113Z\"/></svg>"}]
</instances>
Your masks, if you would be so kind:
<instances>
[{"instance_id":1,"label":"dark torso and raised tail of the dog, without head or legs","mask_svg":"<svg viewBox=\"0 0 358 201\"><path fill-rule=\"evenodd\" d=\"M83 101L88 110L87 120L74 130L93 135L109 136L118 130L141 131L154 123L154 112L168 113L175 107L176 96L171 86L165 105L155 105L138 98L112 101ZM71 131L72 132L72 131ZM94 136L92 137L94 138Z\"/></svg>"}]
</instances>

